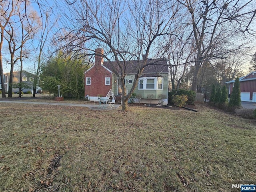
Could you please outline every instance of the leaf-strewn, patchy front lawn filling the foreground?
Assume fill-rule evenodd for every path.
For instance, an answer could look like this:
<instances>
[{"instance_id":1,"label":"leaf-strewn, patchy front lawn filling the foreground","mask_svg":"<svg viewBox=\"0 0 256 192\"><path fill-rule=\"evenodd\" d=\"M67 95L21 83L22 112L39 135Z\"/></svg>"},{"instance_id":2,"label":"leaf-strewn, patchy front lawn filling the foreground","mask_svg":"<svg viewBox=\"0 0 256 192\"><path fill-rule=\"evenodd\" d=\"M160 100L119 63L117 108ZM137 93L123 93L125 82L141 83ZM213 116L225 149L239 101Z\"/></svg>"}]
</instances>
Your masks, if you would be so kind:
<instances>
[{"instance_id":1,"label":"leaf-strewn, patchy front lawn filling the foreground","mask_svg":"<svg viewBox=\"0 0 256 192\"><path fill-rule=\"evenodd\" d=\"M0 109L0 191L229 192L256 178L256 121L205 106Z\"/></svg>"}]
</instances>

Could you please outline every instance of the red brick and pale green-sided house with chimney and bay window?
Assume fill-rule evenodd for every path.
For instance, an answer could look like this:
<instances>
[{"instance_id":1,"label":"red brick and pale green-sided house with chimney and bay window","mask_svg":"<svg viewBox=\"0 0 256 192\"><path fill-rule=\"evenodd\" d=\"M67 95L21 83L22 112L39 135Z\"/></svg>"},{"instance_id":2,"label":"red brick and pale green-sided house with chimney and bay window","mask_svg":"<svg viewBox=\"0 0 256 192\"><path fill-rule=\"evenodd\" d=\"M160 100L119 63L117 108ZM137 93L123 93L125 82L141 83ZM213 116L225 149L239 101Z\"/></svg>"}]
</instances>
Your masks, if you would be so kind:
<instances>
[{"instance_id":1,"label":"red brick and pale green-sided house with chimney and bay window","mask_svg":"<svg viewBox=\"0 0 256 192\"><path fill-rule=\"evenodd\" d=\"M95 63L84 72L85 96L94 101L95 96L106 96L109 92L114 93L116 97L121 96L122 89L118 82L113 68L120 71L116 62L104 62L102 48L95 50ZM98 53L98 55L97 55ZM126 62L126 91L129 92L134 82L135 74L142 60L133 60ZM123 62L122 62L123 63ZM139 77L138 85L134 90L137 98L142 103L149 103L148 98L152 98L151 103L158 104L159 99L164 97L164 105L168 103L168 65L164 59L148 59L148 65L144 68L142 75ZM119 69L119 70L118 70ZM138 102L138 99L135 100Z\"/></svg>"}]
</instances>

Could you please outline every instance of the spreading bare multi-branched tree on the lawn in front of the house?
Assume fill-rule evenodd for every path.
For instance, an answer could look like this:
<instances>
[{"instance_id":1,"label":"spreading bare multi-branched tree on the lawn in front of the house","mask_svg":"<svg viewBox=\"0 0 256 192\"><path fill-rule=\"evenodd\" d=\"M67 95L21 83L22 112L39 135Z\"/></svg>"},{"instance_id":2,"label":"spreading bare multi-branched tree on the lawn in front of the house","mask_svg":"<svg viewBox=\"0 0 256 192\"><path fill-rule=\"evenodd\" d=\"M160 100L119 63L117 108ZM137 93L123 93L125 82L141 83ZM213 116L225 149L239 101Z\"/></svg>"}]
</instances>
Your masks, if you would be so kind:
<instances>
[{"instance_id":1,"label":"spreading bare multi-branched tree on the lawn in front of the house","mask_svg":"<svg viewBox=\"0 0 256 192\"><path fill-rule=\"evenodd\" d=\"M94 54L94 50L88 47L95 47L95 44L106 47L106 52L100 56L113 64L112 70L122 88L122 111L126 111L128 98L134 92L140 74L148 65L147 59L158 53L155 43L161 36L170 35L170 21L178 12L177 4L170 2L172 7L167 8L166 3L154 0L80 0L66 3L68 6L65 10L69 10L69 14L65 19L71 19L69 21L73 26L68 26L72 30L66 27L67 34L59 40L70 39L67 44L69 49L87 50L88 54ZM129 60L142 62L137 62L134 66L135 79L130 92L126 93L126 65Z\"/></svg>"}]
</instances>

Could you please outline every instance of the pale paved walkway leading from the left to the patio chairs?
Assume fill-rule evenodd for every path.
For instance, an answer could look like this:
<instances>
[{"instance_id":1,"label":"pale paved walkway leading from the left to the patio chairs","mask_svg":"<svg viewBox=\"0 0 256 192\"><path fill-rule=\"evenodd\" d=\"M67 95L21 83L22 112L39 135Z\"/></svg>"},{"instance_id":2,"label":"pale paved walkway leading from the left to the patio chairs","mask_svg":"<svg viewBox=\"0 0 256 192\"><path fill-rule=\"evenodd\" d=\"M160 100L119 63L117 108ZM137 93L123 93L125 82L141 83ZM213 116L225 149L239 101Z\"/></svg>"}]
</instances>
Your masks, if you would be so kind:
<instances>
[{"instance_id":1,"label":"pale paved walkway leading from the left to the patio chairs","mask_svg":"<svg viewBox=\"0 0 256 192\"><path fill-rule=\"evenodd\" d=\"M60 103L60 102L32 102L32 101L24 101L24 100L0 100L0 103L22 103L22 104L36 104L36 105L62 105L62 106L78 106L78 107L88 107L93 110L112 110L117 109L120 105L114 104L114 108L108 108L108 104L102 108L98 105L94 104L75 104L75 103Z\"/></svg>"}]
</instances>

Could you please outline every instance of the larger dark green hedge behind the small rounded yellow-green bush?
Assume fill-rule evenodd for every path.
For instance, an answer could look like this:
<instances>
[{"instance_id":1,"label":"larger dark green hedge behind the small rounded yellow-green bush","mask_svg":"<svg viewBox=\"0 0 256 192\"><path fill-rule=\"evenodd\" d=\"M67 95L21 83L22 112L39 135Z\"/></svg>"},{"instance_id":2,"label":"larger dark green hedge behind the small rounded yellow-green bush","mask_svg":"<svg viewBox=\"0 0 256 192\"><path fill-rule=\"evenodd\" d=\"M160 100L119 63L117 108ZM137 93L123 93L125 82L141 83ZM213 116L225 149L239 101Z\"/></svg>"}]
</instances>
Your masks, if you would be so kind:
<instances>
[{"instance_id":1,"label":"larger dark green hedge behind the small rounded yellow-green bush","mask_svg":"<svg viewBox=\"0 0 256 192\"><path fill-rule=\"evenodd\" d=\"M173 89L171 92L168 94L168 101L170 104L174 104L172 101L172 96L174 95L186 95L188 96L188 105L194 105L195 99L196 99L196 92L191 91L191 90L184 90L184 89Z\"/></svg>"}]
</instances>

